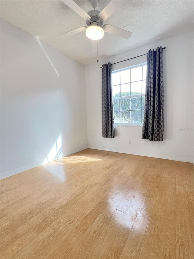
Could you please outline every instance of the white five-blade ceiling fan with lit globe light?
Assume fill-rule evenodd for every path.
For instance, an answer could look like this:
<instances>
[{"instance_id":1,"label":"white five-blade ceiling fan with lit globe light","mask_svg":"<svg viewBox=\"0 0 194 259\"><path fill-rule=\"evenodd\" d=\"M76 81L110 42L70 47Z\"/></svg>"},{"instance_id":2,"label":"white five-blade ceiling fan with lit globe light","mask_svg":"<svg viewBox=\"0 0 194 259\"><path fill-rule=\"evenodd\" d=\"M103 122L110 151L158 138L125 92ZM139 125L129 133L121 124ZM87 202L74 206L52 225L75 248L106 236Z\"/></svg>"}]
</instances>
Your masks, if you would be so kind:
<instances>
[{"instance_id":1,"label":"white five-blade ceiling fan with lit globe light","mask_svg":"<svg viewBox=\"0 0 194 259\"><path fill-rule=\"evenodd\" d=\"M131 37L131 32L123 30L121 28L104 24L104 21L109 18L122 4L124 1L112 0L105 6L105 8L100 12L96 10L99 3L98 0L90 0L90 4L94 10L86 13L79 5L77 5L73 0L62 0L62 2L69 6L74 12L79 14L85 19L87 26L82 26L69 32L62 33L60 37L72 36L79 32L86 31L86 36L91 40L99 40L103 38L104 32L119 36L124 39L129 39Z\"/></svg>"}]
</instances>

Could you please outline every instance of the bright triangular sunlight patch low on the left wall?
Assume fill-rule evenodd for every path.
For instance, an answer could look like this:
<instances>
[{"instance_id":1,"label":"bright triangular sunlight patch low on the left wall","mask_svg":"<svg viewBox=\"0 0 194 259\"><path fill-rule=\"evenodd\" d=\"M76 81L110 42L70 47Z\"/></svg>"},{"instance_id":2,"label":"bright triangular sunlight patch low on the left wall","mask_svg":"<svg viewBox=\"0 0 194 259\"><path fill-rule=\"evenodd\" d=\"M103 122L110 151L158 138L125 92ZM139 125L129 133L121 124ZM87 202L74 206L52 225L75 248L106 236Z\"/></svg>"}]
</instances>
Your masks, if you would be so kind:
<instances>
[{"instance_id":1,"label":"bright triangular sunlight patch low on the left wall","mask_svg":"<svg viewBox=\"0 0 194 259\"><path fill-rule=\"evenodd\" d=\"M42 164L49 163L53 160L62 158L62 133L59 134L57 139L55 140L54 144L52 145L51 149L45 156Z\"/></svg>"}]
</instances>

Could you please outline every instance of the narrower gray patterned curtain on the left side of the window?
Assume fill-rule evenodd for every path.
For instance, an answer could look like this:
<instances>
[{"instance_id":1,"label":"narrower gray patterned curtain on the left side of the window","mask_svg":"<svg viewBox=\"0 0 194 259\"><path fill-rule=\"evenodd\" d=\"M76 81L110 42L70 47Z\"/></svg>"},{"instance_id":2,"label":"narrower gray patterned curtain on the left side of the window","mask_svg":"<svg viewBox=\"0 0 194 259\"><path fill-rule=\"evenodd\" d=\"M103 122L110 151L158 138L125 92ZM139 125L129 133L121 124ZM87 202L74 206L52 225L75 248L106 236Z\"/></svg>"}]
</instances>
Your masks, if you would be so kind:
<instances>
[{"instance_id":1,"label":"narrower gray patterned curtain on the left side of the window","mask_svg":"<svg viewBox=\"0 0 194 259\"><path fill-rule=\"evenodd\" d=\"M114 138L115 128L113 121L112 104L112 65L104 64L102 68L102 137Z\"/></svg>"}]
</instances>

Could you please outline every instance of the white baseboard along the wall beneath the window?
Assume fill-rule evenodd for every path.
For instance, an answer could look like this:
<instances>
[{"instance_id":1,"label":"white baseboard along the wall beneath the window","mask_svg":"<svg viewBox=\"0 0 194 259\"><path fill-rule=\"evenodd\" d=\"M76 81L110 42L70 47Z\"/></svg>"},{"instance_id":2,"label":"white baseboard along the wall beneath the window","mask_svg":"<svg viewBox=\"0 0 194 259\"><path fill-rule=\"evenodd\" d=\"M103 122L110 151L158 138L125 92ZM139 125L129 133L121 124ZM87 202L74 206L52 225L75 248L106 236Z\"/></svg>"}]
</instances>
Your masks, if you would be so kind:
<instances>
[{"instance_id":1,"label":"white baseboard along the wall beneath the window","mask_svg":"<svg viewBox=\"0 0 194 259\"><path fill-rule=\"evenodd\" d=\"M125 150L120 150L120 149L101 148L101 147L95 147L95 146L88 146L88 148L117 152L117 153L124 153L124 154L131 154L131 155L138 155L138 156L144 156L144 157L162 158L162 159L181 161L181 162L189 162L189 163L193 162L192 158L189 159L189 158L181 158L181 157L160 156L160 155L154 155L154 154L149 154L149 153L142 154L142 153L135 153L135 152L125 151Z\"/></svg>"}]
</instances>

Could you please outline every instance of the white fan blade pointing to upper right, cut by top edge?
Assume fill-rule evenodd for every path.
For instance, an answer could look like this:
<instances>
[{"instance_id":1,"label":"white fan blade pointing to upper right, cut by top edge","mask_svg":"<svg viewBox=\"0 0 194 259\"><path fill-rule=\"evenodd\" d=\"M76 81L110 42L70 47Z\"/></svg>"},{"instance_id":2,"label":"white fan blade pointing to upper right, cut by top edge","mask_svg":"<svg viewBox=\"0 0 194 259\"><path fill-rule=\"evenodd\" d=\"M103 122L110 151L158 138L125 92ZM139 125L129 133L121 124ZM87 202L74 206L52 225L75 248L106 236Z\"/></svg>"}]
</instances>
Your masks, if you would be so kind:
<instances>
[{"instance_id":1,"label":"white fan blade pointing to upper right, cut by top edge","mask_svg":"<svg viewBox=\"0 0 194 259\"><path fill-rule=\"evenodd\" d=\"M99 18L103 21L108 19L121 5L124 1L122 0L112 0L105 6L105 8L99 13Z\"/></svg>"}]
</instances>

